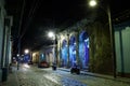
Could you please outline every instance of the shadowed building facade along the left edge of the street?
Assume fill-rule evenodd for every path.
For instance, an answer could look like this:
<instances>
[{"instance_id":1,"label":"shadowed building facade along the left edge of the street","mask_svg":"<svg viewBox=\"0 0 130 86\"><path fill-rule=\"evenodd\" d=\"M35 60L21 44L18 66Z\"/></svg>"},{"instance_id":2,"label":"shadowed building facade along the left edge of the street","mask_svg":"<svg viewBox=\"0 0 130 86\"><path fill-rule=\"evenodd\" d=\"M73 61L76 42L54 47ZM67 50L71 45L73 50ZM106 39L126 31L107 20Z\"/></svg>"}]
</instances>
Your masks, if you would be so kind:
<instances>
[{"instance_id":1,"label":"shadowed building facade along the left edge of the street","mask_svg":"<svg viewBox=\"0 0 130 86\"><path fill-rule=\"evenodd\" d=\"M0 82L6 80L8 69L11 63L11 27L12 16L6 15L4 0L0 0Z\"/></svg>"}]
</instances>

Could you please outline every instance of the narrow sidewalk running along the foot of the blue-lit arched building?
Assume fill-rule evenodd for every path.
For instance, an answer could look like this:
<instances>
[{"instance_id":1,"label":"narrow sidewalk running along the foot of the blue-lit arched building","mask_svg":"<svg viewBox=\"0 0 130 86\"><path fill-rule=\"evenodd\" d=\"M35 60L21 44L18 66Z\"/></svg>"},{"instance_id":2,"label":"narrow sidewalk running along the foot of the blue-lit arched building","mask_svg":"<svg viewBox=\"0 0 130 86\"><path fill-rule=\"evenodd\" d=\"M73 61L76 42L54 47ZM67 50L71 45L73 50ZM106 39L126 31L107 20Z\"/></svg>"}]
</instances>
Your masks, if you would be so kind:
<instances>
[{"instance_id":1,"label":"narrow sidewalk running along the foot of the blue-lit arched building","mask_svg":"<svg viewBox=\"0 0 130 86\"><path fill-rule=\"evenodd\" d=\"M65 68L57 68L57 69L62 70L62 71L70 72L70 69L65 69ZM114 81L125 82L125 83L129 83L130 84L130 78L127 78L127 77L117 76L115 78L112 75L104 75L104 74L91 73L91 72L87 72L87 71L80 71L80 74L95 76L95 77L102 77L102 78L107 78L107 80L114 80Z\"/></svg>"}]
</instances>

